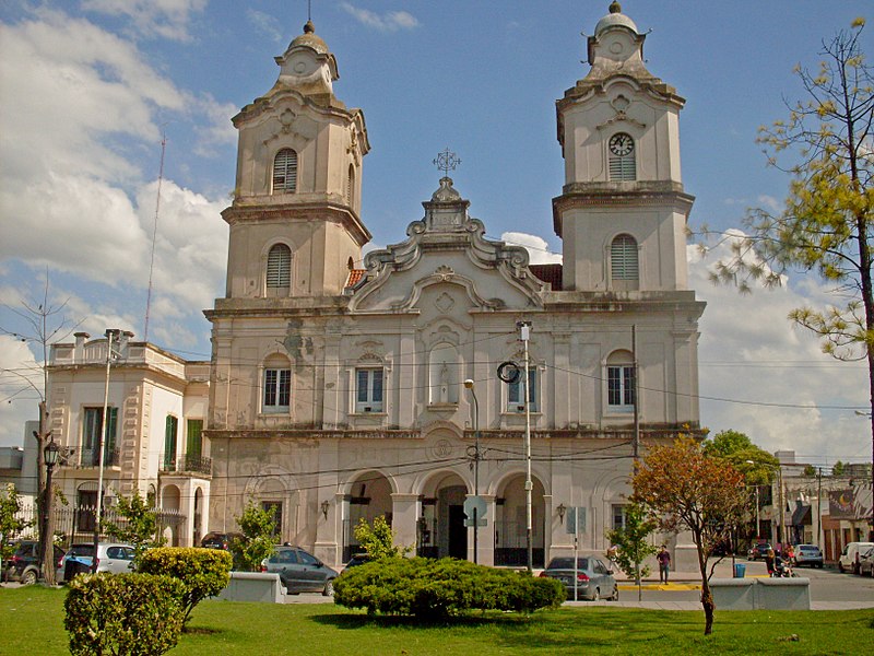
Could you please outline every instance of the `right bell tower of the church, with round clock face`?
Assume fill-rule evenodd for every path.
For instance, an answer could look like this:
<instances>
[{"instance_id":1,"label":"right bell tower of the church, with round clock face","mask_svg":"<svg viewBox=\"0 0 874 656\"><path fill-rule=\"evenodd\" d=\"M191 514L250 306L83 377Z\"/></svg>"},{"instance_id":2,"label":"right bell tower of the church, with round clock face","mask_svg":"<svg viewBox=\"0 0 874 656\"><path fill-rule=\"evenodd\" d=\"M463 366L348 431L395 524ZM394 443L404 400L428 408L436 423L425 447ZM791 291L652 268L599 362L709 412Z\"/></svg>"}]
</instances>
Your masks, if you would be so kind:
<instances>
[{"instance_id":1,"label":"right bell tower of the church, with round clock face","mask_svg":"<svg viewBox=\"0 0 874 656\"><path fill-rule=\"evenodd\" d=\"M589 73L556 102L565 185L553 221L565 290L686 288L694 198L680 172L685 101L647 70L645 39L612 2L588 37Z\"/></svg>"}]
</instances>

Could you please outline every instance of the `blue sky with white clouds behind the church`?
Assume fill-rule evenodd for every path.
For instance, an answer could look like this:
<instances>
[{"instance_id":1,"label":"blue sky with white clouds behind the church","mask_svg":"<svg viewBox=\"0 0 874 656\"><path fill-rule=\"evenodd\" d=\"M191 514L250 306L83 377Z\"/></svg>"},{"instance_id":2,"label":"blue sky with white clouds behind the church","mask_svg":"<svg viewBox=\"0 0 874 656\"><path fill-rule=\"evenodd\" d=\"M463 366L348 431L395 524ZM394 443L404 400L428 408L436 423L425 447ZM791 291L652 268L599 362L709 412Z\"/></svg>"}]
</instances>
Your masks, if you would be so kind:
<instances>
[{"instance_id":1,"label":"blue sky with white clouds behind the church","mask_svg":"<svg viewBox=\"0 0 874 656\"><path fill-rule=\"evenodd\" d=\"M437 187L444 148L462 163L456 187L487 234L507 233L536 261L556 258L551 199L563 161L555 99L586 75L586 38L604 1L312 1L316 32L338 59L335 94L364 110L363 220L374 244L400 242ZM741 225L748 207L779 207L788 178L765 166L756 128L787 114L795 63L816 67L822 39L864 15L863 1L626 1L650 31L650 71L687 99L681 115L693 227ZM871 16L867 16L871 19ZM162 132L167 148L149 340L209 358L201 311L224 291L234 186L229 118L276 79L273 57L302 32L306 1L8 0L0 7L0 328L9 307L42 293L81 329L143 337ZM874 39L866 31L866 49ZM525 236L528 235L528 236ZM822 355L786 320L827 289L793 277L739 296L690 282L701 321L701 422L736 429L801 460L870 459L864 368ZM0 367L34 354L0 337ZM38 354L37 354L38 358ZM21 442L33 394L0 376L0 444ZM719 398L727 400L710 400ZM8 401L12 402L8 402ZM765 403L765 405L761 405ZM841 407L842 409L831 409Z\"/></svg>"}]
</instances>

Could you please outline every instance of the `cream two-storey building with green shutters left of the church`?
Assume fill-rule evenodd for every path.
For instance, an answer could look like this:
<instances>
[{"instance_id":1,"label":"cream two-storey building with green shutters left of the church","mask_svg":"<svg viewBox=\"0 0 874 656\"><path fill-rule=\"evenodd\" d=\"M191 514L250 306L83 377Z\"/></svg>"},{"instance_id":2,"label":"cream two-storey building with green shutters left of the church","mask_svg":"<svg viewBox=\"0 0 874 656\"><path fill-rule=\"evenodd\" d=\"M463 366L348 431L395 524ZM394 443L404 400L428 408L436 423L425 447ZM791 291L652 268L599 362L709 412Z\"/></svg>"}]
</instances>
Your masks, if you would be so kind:
<instances>
[{"instance_id":1,"label":"cream two-storey building with green shutters left of the church","mask_svg":"<svg viewBox=\"0 0 874 656\"><path fill-rule=\"evenodd\" d=\"M127 337L127 336L126 336ZM126 339L114 345L107 373L107 339L51 347L49 418L52 436L66 447L55 483L72 507L70 539L94 530L104 442L104 494L137 490L178 522L166 526L173 544L190 546L206 531L211 461L203 440L209 398L209 362L186 362L153 344ZM108 376L108 397L107 391ZM103 431L107 399L108 433ZM60 511L61 508L59 508Z\"/></svg>"}]
</instances>

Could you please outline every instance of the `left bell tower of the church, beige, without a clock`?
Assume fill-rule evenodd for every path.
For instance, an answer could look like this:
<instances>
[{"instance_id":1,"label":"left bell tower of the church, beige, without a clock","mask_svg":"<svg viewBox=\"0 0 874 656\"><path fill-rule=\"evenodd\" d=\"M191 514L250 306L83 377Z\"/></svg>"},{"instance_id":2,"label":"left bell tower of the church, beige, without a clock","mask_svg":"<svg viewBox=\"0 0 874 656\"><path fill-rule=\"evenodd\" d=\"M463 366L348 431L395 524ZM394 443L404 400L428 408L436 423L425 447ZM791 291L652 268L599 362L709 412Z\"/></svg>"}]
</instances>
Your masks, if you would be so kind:
<instances>
[{"instance_id":1,"label":"left bell tower of the church, beige, without a clock","mask_svg":"<svg viewBox=\"0 0 874 656\"><path fill-rule=\"evenodd\" d=\"M275 58L273 87L237 114L227 298L342 293L370 233L361 220L361 109L333 93L336 60L311 22Z\"/></svg>"}]
</instances>

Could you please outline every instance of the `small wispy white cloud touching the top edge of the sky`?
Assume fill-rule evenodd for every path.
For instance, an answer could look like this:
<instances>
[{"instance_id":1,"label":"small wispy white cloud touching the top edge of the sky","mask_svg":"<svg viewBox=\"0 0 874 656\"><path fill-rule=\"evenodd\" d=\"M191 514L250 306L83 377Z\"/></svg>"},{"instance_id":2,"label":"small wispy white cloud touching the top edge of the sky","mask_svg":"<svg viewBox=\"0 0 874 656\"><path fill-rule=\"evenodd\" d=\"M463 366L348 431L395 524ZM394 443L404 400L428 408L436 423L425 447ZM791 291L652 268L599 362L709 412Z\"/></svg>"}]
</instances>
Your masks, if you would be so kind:
<instances>
[{"instance_id":1,"label":"small wispy white cloud touching the top edge of the sky","mask_svg":"<svg viewBox=\"0 0 874 656\"><path fill-rule=\"evenodd\" d=\"M83 0L82 9L110 16L127 16L146 37L188 40L191 14L203 11L208 0Z\"/></svg>"}]
</instances>

